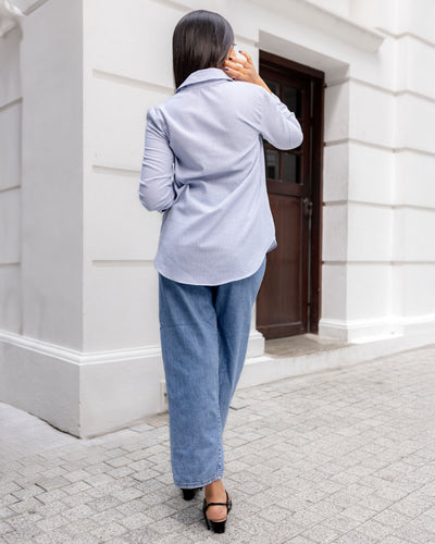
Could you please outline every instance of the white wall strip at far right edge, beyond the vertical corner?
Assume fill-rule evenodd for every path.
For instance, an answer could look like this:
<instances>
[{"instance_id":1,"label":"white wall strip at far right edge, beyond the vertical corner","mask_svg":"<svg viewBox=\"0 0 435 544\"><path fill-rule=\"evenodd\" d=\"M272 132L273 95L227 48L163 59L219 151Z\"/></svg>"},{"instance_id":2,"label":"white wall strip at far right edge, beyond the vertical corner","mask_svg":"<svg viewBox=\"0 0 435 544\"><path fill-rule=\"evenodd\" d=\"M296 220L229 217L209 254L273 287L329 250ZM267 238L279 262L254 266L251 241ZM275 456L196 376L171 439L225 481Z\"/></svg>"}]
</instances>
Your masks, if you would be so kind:
<instances>
[{"instance_id":1,"label":"white wall strip at far right edge, beyond the vertical corner","mask_svg":"<svg viewBox=\"0 0 435 544\"><path fill-rule=\"evenodd\" d=\"M394 275L405 326L435 319L435 4L399 2ZM399 290L400 289L400 290Z\"/></svg>"}]
</instances>

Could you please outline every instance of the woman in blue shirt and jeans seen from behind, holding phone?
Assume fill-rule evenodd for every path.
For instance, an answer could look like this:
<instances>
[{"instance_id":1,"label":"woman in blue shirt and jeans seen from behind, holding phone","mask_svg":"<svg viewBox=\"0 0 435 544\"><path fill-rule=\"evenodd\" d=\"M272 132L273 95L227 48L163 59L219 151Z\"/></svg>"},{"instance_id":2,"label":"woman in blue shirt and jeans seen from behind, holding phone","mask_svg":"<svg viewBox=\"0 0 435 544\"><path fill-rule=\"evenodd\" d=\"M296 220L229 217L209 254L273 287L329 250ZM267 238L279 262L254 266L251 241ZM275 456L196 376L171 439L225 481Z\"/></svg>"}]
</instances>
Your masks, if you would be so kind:
<instances>
[{"instance_id":1,"label":"woman in blue shirt and jeans seen from behind, holding phone","mask_svg":"<svg viewBox=\"0 0 435 544\"><path fill-rule=\"evenodd\" d=\"M184 498L206 487L208 529L224 532L222 433L251 312L276 247L262 137L303 139L295 114L234 49L220 14L187 13L173 34L175 94L147 113L139 199L163 213L154 267L171 465Z\"/></svg>"}]
</instances>

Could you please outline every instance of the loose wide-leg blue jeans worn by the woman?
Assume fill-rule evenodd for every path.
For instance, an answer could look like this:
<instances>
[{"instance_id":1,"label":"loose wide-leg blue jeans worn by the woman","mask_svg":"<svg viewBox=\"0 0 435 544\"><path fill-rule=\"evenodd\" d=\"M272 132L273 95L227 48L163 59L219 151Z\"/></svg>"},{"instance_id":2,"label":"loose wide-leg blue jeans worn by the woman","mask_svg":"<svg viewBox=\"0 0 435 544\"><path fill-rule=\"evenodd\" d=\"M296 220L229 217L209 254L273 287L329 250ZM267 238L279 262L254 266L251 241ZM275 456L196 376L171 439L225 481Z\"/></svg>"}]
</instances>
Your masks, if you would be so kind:
<instances>
[{"instance_id":1,"label":"loose wide-leg blue jeans worn by the woman","mask_svg":"<svg viewBox=\"0 0 435 544\"><path fill-rule=\"evenodd\" d=\"M221 285L190 285L159 273L159 319L178 487L223 477L222 433L244 367L253 304L265 272Z\"/></svg>"}]
</instances>

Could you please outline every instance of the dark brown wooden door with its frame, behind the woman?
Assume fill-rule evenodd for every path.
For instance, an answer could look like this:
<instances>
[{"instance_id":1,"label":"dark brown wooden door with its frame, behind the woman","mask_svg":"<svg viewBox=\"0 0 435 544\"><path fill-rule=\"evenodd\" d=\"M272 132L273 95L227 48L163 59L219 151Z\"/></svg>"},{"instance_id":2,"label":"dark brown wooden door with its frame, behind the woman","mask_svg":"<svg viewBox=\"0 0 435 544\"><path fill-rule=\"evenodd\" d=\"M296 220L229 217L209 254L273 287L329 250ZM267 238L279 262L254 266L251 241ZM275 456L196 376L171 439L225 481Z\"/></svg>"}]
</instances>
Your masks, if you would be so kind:
<instances>
[{"instance_id":1,"label":"dark brown wooden door with its frame, behind the woman","mask_svg":"<svg viewBox=\"0 0 435 544\"><path fill-rule=\"evenodd\" d=\"M264 140L277 242L268 254L257 297L257 329L268 339L318 332L324 76L264 51L260 51L260 75L295 112L303 132L303 143L291 150L278 150Z\"/></svg>"}]
</instances>

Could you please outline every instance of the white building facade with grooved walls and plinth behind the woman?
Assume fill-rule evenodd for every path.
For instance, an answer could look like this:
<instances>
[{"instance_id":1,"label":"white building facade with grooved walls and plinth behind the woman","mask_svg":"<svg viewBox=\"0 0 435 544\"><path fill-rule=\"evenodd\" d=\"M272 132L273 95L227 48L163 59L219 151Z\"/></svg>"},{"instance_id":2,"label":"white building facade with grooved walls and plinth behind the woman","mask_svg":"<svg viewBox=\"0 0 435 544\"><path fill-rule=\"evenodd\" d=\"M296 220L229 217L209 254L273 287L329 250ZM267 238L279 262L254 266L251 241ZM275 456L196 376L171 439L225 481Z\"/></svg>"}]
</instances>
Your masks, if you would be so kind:
<instances>
[{"instance_id":1,"label":"white building facade with grooved walls and plinth behind the woman","mask_svg":"<svg viewBox=\"0 0 435 544\"><path fill-rule=\"evenodd\" d=\"M265 78L322 84L303 331L350 350L272 358L253 311L239 386L434 342L435 2L15 4L16 23L0 12L0 401L80 437L165 409L161 215L137 189L147 110L174 92L172 33L196 9L224 15Z\"/></svg>"}]
</instances>

